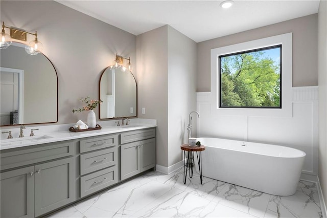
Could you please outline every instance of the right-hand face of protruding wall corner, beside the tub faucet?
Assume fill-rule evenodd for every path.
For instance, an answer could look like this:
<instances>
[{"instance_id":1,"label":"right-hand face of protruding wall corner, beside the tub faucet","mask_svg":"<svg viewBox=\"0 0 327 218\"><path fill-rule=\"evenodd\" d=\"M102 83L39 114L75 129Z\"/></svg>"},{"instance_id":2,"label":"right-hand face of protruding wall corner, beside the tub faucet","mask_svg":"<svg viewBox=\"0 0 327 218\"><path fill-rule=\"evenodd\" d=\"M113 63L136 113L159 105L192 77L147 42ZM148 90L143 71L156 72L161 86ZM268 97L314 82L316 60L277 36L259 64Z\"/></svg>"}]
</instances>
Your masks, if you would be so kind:
<instances>
[{"instance_id":1,"label":"right-hand face of protruding wall corner, beside the tub faucet","mask_svg":"<svg viewBox=\"0 0 327 218\"><path fill-rule=\"evenodd\" d=\"M180 145L188 143L189 113L196 110L196 42L168 27L168 166L182 160ZM193 137L196 116L193 114Z\"/></svg>"}]
</instances>

